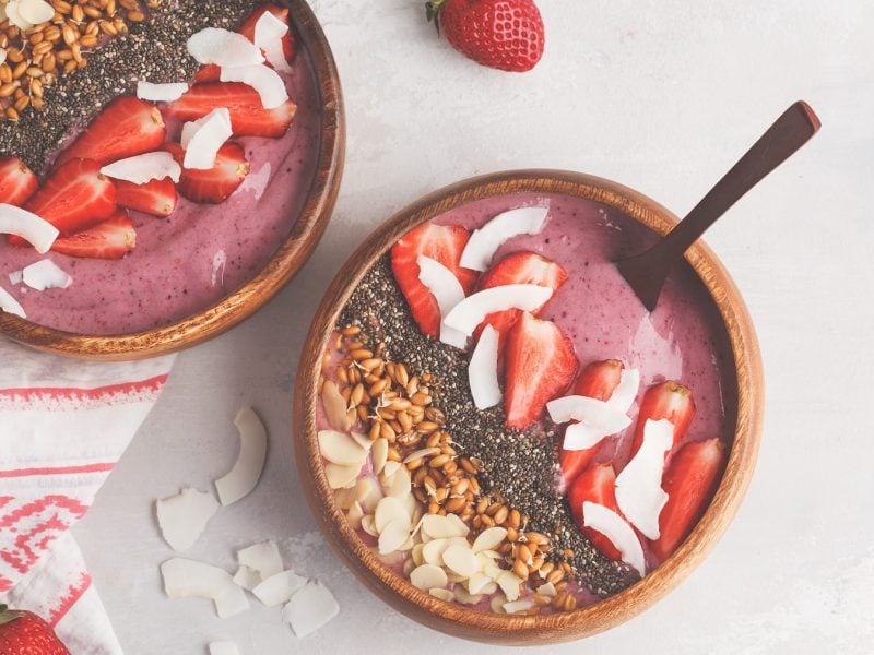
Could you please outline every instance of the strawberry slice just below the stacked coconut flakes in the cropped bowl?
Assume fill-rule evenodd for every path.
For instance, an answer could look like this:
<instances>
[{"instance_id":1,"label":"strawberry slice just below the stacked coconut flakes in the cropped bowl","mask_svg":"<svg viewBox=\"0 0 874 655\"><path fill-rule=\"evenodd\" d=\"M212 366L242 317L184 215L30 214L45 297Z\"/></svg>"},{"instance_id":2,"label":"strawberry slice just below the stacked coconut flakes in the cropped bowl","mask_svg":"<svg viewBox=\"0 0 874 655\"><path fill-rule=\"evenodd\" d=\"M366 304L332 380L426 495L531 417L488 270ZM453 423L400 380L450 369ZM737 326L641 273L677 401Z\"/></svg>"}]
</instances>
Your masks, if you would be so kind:
<instances>
[{"instance_id":1,"label":"strawberry slice just below the stacked coconut flakes in the cropped bowl","mask_svg":"<svg viewBox=\"0 0 874 655\"><path fill-rule=\"evenodd\" d=\"M167 143L164 148L182 166L185 151L178 143ZM249 174L249 163L243 146L233 141L218 148L215 166L209 170L182 168L177 186L179 193L198 203L218 204L227 200Z\"/></svg>"}]
</instances>

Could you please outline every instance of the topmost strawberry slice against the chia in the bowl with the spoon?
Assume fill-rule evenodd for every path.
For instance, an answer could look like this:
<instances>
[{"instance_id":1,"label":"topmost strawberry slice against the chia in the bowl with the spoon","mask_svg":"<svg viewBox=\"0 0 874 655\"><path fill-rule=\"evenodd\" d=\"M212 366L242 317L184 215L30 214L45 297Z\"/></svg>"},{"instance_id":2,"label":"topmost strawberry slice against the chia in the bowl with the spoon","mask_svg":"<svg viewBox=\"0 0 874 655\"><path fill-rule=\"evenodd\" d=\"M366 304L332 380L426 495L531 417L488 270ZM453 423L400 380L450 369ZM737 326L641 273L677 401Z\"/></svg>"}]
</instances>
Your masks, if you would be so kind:
<instances>
[{"instance_id":1,"label":"topmost strawberry slice against the chia in the bowl with the spoon","mask_svg":"<svg viewBox=\"0 0 874 655\"><path fill-rule=\"evenodd\" d=\"M423 334L440 335L440 308L428 288L418 281L420 255L440 262L452 271L464 294L470 294L476 273L459 264L470 233L463 227L425 223L406 233L391 249L391 271L406 298L410 311Z\"/></svg>"}]
</instances>

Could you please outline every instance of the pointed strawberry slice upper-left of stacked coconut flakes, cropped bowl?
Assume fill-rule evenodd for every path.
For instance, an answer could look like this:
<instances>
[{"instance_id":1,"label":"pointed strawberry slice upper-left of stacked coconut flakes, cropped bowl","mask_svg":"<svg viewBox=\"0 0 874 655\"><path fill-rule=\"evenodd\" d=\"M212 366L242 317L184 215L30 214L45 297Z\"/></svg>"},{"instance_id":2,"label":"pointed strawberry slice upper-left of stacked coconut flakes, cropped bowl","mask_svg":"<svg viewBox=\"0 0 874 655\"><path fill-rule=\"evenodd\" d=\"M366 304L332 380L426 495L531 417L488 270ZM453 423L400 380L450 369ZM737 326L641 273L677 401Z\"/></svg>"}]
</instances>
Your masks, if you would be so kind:
<instances>
[{"instance_id":1,"label":"pointed strawberry slice upper-left of stacked coconut flakes, cropped bowl","mask_svg":"<svg viewBox=\"0 0 874 655\"><path fill-rule=\"evenodd\" d=\"M92 121L73 145L60 154L56 166L75 158L109 164L149 153L164 143L166 134L167 127L154 105L123 96Z\"/></svg>"}]
</instances>

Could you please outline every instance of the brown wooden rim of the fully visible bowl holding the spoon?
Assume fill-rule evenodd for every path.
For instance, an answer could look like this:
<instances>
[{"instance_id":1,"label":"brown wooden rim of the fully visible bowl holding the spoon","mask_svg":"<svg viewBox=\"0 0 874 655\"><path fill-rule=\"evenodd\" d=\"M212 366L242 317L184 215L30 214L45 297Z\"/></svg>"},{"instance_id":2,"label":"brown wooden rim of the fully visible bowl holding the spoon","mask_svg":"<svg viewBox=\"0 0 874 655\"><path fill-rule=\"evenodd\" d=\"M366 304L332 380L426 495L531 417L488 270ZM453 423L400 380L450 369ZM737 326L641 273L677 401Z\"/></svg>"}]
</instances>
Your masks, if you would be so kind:
<instances>
[{"instance_id":1,"label":"brown wooden rim of the fully visible bowl holding the spoon","mask_svg":"<svg viewBox=\"0 0 874 655\"><path fill-rule=\"evenodd\" d=\"M556 170L521 170L473 178L441 189L402 210L350 258L334 278L304 344L294 398L294 440L302 484L328 541L355 575L393 608L453 636L494 644L544 644L607 630L640 614L692 572L733 517L753 474L763 418L761 362L753 325L737 289L713 253L696 243L686 259L706 285L724 321L737 383L737 420L728 466L717 495L692 535L664 563L629 588L594 605L545 616L484 614L422 592L385 565L338 509L316 438L322 353L338 315L369 266L403 234L471 201L508 193L562 193L616 207L659 234L677 221L668 210L626 187Z\"/></svg>"}]
</instances>

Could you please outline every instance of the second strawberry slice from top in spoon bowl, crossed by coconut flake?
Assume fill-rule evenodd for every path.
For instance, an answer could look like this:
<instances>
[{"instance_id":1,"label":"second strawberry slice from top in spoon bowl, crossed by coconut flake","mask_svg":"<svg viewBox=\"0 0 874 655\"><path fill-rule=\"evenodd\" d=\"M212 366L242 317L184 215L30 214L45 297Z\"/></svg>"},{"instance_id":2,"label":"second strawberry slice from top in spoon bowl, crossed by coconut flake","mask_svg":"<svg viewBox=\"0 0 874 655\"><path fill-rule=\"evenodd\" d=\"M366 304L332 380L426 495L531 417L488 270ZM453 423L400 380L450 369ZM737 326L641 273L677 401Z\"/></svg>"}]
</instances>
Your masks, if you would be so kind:
<instances>
[{"instance_id":1,"label":"second strawberry slice from top in spoon bowl, crossed by coconut flake","mask_svg":"<svg viewBox=\"0 0 874 655\"><path fill-rule=\"evenodd\" d=\"M567 273L560 265L534 252L522 251L508 254L486 271L480 278L479 287L487 289L506 284L536 284L555 291L566 279ZM538 311L533 313L536 315ZM476 327L474 338L480 338L480 332L491 324L499 335L498 353L501 353L507 334L520 313L518 309L507 309L488 314Z\"/></svg>"}]
</instances>

